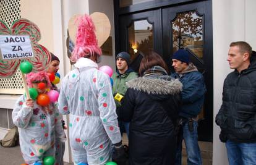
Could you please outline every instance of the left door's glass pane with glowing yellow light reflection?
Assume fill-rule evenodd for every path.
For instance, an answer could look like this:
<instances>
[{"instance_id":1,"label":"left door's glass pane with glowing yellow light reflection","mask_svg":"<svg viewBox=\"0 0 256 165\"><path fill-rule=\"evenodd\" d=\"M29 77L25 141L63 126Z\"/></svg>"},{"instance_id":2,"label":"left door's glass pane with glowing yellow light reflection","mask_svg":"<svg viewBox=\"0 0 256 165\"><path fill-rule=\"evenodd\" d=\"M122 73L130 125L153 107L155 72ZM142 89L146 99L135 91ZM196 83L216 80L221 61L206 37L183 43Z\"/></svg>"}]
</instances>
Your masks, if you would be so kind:
<instances>
[{"instance_id":1,"label":"left door's glass pane with glowing yellow light reflection","mask_svg":"<svg viewBox=\"0 0 256 165\"><path fill-rule=\"evenodd\" d=\"M131 23L128 28L129 54L135 59L136 53L142 51L148 54L153 49L153 25L147 20L138 20Z\"/></svg>"}]
</instances>

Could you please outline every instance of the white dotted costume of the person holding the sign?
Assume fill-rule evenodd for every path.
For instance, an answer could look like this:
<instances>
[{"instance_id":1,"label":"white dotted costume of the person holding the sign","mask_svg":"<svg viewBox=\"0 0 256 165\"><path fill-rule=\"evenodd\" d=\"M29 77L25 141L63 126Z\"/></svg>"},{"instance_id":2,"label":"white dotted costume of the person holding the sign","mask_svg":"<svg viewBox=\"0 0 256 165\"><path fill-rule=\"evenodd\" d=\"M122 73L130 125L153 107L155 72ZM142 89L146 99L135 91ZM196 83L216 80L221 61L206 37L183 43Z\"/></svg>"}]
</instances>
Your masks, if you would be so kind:
<instances>
[{"instance_id":1,"label":"white dotted costume of the person holding the sign","mask_svg":"<svg viewBox=\"0 0 256 165\"><path fill-rule=\"evenodd\" d=\"M50 104L49 111L45 111L36 101L33 108L27 107L24 95L15 103L12 121L19 127L20 150L25 163L42 163L43 157L55 156L55 133L66 140L64 132L60 132L62 122L56 108Z\"/></svg>"}]
</instances>

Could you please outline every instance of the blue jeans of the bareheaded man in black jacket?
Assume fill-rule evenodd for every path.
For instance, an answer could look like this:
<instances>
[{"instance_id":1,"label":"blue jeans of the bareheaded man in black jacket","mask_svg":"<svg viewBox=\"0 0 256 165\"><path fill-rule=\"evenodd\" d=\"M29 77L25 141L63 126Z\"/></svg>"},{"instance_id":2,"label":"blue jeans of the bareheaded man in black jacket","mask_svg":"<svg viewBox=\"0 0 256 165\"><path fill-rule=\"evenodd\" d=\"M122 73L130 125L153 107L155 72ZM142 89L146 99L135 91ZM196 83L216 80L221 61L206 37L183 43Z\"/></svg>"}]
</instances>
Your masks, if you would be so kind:
<instances>
[{"instance_id":1,"label":"blue jeans of the bareheaded man in black jacket","mask_svg":"<svg viewBox=\"0 0 256 165\"><path fill-rule=\"evenodd\" d=\"M228 161L230 165L256 164L256 143L226 142Z\"/></svg>"}]
</instances>

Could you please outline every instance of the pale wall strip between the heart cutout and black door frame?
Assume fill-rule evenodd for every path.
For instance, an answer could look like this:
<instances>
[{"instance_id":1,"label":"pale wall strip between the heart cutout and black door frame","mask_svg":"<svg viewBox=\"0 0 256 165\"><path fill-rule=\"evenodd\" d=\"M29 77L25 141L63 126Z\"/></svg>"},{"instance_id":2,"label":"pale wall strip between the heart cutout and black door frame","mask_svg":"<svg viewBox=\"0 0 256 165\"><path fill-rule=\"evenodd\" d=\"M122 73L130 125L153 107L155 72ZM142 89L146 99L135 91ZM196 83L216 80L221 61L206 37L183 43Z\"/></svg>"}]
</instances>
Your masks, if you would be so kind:
<instances>
[{"instance_id":1,"label":"pale wall strip between the heart cutout and black door frame","mask_svg":"<svg viewBox=\"0 0 256 165\"><path fill-rule=\"evenodd\" d=\"M113 0L89 0L89 13L103 12L108 16L111 24L110 36L112 36L112 56L102 55L102 60L99 66L110 66L113 70L116 69L115 64L115 46L114 46L114 4Z\"/></svg>"}]
</instances>

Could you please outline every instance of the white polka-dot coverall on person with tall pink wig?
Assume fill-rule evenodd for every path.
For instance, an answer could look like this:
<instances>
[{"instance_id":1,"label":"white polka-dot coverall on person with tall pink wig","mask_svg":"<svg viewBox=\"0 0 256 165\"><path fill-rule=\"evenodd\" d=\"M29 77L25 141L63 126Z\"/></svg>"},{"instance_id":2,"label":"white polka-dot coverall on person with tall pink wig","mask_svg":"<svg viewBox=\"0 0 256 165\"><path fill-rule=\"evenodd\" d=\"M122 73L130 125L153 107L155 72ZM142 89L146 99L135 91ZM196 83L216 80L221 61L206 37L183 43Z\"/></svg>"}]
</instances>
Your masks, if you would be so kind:
<instances>
[{"instance_id":1,"label":"white polka-dot coverall on person with tall pink wig","mask_svg":"<svg viewBox=\"0 0 256 165\"><path fill-rule=\"evenodd\" d=\"M70 114L69 138L75 164L105 164L111 142L121 142L109 76L90 59L80 58L62 80L59 111Z\"/></svg>"}]
</instances>

